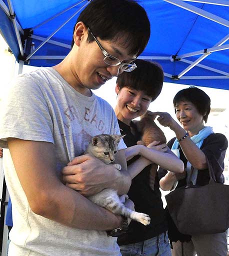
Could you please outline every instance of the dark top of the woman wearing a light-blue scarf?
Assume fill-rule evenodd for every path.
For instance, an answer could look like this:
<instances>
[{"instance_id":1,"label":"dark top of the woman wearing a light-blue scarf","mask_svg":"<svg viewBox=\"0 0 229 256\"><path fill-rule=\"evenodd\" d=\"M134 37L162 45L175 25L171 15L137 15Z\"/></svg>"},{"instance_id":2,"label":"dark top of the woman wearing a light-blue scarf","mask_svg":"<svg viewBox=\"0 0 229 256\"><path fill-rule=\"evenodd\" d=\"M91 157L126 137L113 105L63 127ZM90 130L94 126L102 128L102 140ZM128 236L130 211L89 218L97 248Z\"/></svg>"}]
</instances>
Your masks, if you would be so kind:
<instances>
[{"instance_id":1,"label":"dark top of the woman wearing a light-blue scarf","mask_svg":"<svg viewBox=\"0 0 229 256\"><path fill-rule=\"evenodd\" d=\"M173 142L175 140L175 137L168 141L167 145L169 148L171 148ZM205 156L207 157L209 164L211 164L215 180L218 183L224 183L224 177L223 177L223 169L224 169L224 157L226 148L228 146L228 142L226 137L221 133L211 133L209 136L207 136L200 147L200 149L203 151ZM185 158L183 151L180 147L178 147L179 153L180 153L180 159L184 163L184 167L186 167L187 159ZM163 177L167 173L167 170L159 168L158 170L158 176L159 179ZM208 169L205 170L198 170L197 172L197 179L196 179L196 185L206 185L209 182L209 174ZM179 180L177 187L181 187L186 185L186 178ZM189 241L191 239L190 235L182 234L180 233L174 222L172 221L168 211L167 213L167 219L168 219L168 236L170 241L177 241L180 240L183 241Z\"/></svg>"}]
</instances>

